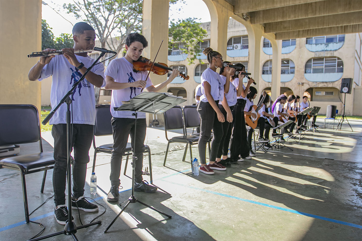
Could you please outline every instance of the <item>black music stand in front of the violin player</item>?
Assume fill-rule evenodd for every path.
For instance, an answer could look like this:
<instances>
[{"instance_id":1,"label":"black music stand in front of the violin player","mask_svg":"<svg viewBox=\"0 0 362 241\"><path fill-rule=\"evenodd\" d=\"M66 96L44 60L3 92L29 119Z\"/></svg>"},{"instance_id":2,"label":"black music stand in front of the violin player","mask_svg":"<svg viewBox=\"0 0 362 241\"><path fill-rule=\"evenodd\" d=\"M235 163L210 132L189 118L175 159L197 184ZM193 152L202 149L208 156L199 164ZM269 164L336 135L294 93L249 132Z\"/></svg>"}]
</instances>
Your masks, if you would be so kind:
<instances>
[{"instance_id":1,"label":"black music stand in front of the violin player","mask_svg":"<svg viewBox=\"0 0 362 241\"><path fill-rule=\"evenodd\" d=\"M173 95L164 94L164 93L157 93L157 92L142 92L139 95L136 95L129 101L124 102L122 106L115 107L115 111L133 111L132 116L135 117L135 137L136 137L136 123L137 123L137 112L146 112L146 113L152 113L152 114L162 114L168 109L171 109L172 107L181 104L182 102L185 102L185 99L178 98ZM135 139L133 140L133 148L136 148L135 145ZM167 216L168 218L171 218L170 215L165 214L156 208L153 208L146 203L143 203L139 201L135 195L134 195L134 178L135 178L135 161L137 160L137 157L134 155L135 150L132 150L132 195L128 198L125 202L119 203L121 206L122 204L126 203L126 206L122 208L122 210L118 213L118 215L113 219L113 221L108 225L108 227L105 229L104 232L107 232L108 229L112 226L112 224L117 220L117 218L121 215L121 213L127 208L127 206L130 203L139 202L143 206L149 207L152 210L158 212L159 214L162 214L164 216Z\"/></svg>"}]
</instances>

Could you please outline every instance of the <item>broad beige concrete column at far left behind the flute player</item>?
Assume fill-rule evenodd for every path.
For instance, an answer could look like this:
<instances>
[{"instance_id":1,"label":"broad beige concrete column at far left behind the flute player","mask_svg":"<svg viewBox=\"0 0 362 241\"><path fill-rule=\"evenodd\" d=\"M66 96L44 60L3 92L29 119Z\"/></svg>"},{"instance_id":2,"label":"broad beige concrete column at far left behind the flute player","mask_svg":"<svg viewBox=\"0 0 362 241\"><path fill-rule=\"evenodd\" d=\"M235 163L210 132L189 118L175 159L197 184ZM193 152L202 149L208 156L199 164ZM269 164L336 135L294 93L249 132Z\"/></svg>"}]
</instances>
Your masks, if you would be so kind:
<instances>
[{"instance_id":1,"label":"broad beige concrete column at far left behind the flute player","mask_svg":"<svg viewBox=\"0 0 362 241\"><path fill-rule=\"evenodd\" d=\"M41 108L41 84L29 81L28 72L41 51L41 0L0 1L0 104L33 104Z\"/></svg>"}]
</instances>

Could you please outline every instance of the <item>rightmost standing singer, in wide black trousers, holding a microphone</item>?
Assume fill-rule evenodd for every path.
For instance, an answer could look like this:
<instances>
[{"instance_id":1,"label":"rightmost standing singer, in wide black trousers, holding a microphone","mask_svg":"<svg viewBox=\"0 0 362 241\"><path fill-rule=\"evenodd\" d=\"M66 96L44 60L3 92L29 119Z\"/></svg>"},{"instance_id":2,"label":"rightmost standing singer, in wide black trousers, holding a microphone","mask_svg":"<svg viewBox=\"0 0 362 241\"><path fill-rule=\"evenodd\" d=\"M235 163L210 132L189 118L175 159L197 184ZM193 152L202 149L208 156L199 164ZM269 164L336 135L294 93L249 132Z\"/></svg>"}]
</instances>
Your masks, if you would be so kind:
<instances>
[{"instance_id":1,"label":"rightmost standing singer, in wide black trousers, holding a microphone","mask_svg":"<svg viewBox=\"0 0 362 241\"><path fill-rule=\"evenodd\" d=\"M240 96L237 96L236 105L232 110L233 122L232 133L230 139L230 162L242 162L244 159L251 159L249 156L249 145L247 144L247 129L245 126L244 107L247 100L247 94L251 83L254 82L253 78L250 78L247 86L243 85L243 72L245 72L245 66L242 64L235 64L241 67L239 74L232 76L232 83L236 87L237 91L241 90ZM240 80L240 81L239 81ZM240 83L241 82L241 83ZM243 88L241 88L241 85Z\"/></svg>"}]
</instances>

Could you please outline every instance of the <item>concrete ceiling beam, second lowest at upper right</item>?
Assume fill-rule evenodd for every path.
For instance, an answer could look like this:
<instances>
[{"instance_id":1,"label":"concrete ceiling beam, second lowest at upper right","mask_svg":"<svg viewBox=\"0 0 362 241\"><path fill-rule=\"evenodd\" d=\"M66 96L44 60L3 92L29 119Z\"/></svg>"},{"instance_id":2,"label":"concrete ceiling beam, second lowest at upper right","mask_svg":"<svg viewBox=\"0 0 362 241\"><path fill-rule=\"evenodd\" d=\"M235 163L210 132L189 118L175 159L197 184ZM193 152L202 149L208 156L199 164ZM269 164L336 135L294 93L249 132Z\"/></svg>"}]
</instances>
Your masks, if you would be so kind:
<instances>
[{"instance_id":1,"label":"concrete ceiling beam, second lowest at upper right","mask_svg":"<svg viewBox=\"0 0 362 241\"><path fill-rule=\"evenodd\" d=\"M290 21L265 23L265 33L317 29L362 23L362 11L333 14L321 17L302 18Z\"/></svg>"}]
</instances>

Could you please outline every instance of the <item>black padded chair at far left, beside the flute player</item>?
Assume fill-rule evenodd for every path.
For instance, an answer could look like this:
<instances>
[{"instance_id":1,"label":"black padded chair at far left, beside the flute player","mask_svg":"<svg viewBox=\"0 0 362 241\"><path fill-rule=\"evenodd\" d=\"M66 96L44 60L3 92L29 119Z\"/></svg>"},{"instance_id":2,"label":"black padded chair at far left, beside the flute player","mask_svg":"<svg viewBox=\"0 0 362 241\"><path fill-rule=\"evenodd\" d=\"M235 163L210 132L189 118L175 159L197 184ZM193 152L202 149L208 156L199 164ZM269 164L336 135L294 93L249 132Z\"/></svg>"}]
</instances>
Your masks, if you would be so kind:
<instances>
[{"instance_id":1,"label":"black padded chair at far left, beside the flute player","mask_svg":"<svg viewBox=\"0 0 362 241\"><path fill-rule=\"evenodd\" d=\"M43 152L38 109L33 105L0 105L0 146L39 141L40 152L12 156L0 160L0 168L19 170L24 198L25 221L29 223L28 196L25 175L44 171L40 192L43 193L46 172L54 167L54 154ZM16 202L16 201L15 201Z\"/></svg>"}]
</instances>

